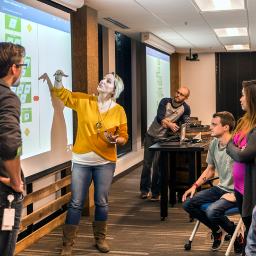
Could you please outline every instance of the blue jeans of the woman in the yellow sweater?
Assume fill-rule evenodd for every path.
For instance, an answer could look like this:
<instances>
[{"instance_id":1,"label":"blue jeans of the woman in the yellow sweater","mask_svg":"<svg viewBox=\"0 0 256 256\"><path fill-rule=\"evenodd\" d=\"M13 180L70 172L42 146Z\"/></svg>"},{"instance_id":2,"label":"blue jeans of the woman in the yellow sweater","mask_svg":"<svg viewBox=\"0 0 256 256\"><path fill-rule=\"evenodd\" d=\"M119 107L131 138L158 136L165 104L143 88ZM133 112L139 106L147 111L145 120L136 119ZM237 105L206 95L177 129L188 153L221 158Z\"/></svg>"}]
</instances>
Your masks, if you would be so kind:
<instances>
[{"instance_id":1,"label":"blue jeans of the woman in the yellow sweater","mask_svg":"<svg viewBox=\"0 0 256 256\"><path fill-rule=\"evenodd\" d=\"M66 224L78 225L87 192L92 179L95 187L95 220L106 221L108 219L108 195L115 173L116 163L106 165L89 166L73 164L71 176L71 202L67 210Z\"/></svg>"}]
</instances>

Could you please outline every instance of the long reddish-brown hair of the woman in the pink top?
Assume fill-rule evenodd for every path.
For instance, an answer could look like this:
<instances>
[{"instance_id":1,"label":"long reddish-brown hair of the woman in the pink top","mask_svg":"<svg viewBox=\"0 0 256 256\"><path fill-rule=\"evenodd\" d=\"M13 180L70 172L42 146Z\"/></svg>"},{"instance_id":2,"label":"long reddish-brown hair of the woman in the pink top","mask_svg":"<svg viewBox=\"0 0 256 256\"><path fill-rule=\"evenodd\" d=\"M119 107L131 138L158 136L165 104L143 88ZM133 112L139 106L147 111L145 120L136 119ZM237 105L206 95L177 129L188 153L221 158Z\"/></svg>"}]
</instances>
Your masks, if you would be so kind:
<instances>
[{"instance_id":1,"label":"long reddish-brown hair of the woman in the pink top","mask_svg":"<svg viewBox=\"0 0 256 256\"><path fill-rule=\"evenodd\" d=\"M236 129L232 133L232 138L234 140L234 136L237 133L244 131L238 141L239 147L241 147L242 139L256 125L256 80L243 81L242 85L245 93L247 112L237 121Z\"/></svg>"}]
</instances>

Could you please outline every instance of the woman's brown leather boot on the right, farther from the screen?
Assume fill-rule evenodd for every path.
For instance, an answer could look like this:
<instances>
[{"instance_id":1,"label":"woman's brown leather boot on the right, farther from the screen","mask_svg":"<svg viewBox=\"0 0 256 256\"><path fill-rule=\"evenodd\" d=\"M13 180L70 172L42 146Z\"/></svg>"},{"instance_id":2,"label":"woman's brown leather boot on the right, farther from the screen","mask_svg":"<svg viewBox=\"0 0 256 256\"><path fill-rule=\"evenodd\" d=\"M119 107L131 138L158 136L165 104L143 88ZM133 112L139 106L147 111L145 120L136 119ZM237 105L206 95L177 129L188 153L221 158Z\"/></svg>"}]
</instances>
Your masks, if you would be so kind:
<instances>
[{"instance_id":1,"label":"woman's brown leather boot on the right, farther from the screen","mask_svg":"<svg viewBox=\"0 0 256 256\"><path fill-rule=\"evenodd\" d=\"M93 221L92 228L96 246L100 252L109 252L109 246L105 242L107 221Z\"/></svg>"}]
</instances>

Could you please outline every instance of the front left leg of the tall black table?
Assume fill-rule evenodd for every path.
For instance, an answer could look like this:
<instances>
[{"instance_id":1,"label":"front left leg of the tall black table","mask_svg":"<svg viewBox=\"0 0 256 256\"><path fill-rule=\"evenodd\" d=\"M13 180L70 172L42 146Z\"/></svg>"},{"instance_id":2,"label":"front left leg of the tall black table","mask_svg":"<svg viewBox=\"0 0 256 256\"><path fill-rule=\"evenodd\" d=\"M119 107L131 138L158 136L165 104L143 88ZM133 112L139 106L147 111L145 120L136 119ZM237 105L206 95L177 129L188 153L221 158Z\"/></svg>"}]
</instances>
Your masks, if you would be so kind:
<instances>
[{"instance_id":1,"label":"front left leg of the tall black table","mask_svg":"<svg viewBox=\"0 0 256 256\"><path fill-rule=\"evenodd\" d=\"M161 167L161 219L165 220L168 217L168 152L160 152L160 167Z\"/></svg>"}]
</instances>

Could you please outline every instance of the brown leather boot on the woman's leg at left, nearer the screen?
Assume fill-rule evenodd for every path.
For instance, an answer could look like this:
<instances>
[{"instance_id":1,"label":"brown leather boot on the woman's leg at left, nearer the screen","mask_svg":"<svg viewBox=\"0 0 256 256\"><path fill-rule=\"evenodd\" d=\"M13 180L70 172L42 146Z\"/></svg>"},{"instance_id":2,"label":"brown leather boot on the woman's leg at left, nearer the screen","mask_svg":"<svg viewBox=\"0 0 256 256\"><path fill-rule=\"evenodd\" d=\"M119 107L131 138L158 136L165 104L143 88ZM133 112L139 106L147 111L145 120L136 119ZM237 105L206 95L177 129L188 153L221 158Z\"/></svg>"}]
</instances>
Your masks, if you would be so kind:
<instances>
[{"instance_id":1,"label":"brown leather boot on the woman's leg at left, nearer the screen","mask_svg":"<svg viewBox=\"0 0 256 256\"><path fill-rule=\"evenodd\" d=\"M78 235L78 226L63 225L63 249L61 256L71 256L75 238Z\"/></svg>"}]
</instances>

